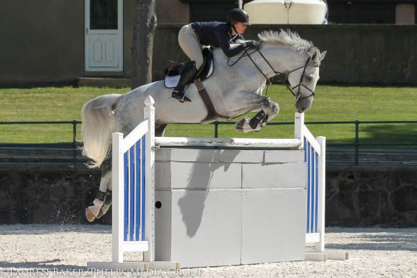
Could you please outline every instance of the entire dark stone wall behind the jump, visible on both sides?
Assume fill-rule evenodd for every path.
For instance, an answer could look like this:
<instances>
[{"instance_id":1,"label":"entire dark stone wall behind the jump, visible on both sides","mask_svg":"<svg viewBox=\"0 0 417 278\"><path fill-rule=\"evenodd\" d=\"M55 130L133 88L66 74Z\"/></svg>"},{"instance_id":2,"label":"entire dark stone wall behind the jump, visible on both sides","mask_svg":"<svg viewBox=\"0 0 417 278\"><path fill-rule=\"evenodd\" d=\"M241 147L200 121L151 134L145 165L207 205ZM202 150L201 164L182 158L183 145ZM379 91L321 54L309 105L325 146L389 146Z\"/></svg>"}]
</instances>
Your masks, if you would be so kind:
<instances>
[{"instance_id":1,"label":"entire dark stone wall behind the jump, visible on both sides","mask_svg":"<svg viewBox=\"0 0 417 278\"><path fill-rule=\"evenodd\" d=\"M417 167L327 166L327 226L416 227ZM1 166L0 224L86 223L100 172L85 167ZM111 223L111 213L98 223Z\"/></svg>"}]
</instances>

